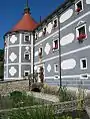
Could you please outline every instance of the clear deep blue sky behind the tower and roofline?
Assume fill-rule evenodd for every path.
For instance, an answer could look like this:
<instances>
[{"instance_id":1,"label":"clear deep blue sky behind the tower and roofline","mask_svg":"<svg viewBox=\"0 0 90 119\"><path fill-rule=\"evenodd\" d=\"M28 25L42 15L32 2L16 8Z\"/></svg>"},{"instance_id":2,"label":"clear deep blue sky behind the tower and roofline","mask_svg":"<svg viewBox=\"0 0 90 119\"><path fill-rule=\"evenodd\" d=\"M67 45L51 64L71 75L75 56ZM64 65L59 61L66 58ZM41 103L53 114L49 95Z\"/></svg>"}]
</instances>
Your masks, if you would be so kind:
<instances>
[{"instance_id":1,"label":"clear deep blue sky behind the tower and roofline","mask_svg":"<svg viewBox=\"0 0 90 119\"><path fill-rule=\"evenodd\" d=\"M28 0L32 17L39 22L53 12L64 0ZM0 48L4 47L3 35L21 18L26 0L0 1Z\"/></svg>"}]
</instances>

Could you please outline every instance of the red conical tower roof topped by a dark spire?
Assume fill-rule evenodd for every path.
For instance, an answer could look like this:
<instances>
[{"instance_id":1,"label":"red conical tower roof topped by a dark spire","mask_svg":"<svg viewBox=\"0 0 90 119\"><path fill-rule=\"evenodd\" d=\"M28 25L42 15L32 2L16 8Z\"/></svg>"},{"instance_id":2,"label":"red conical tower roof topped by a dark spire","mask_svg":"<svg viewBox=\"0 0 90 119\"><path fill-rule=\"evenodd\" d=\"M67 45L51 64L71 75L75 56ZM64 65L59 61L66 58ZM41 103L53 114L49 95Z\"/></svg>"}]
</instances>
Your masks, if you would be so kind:
<instances>
[{"instance_id":1,"label":"red conical tower roof topped by a dark spire","mask_svg":"<svg viewBox=\"0 0 90 119\"><path fill-rule=\"evenodd\" d=\"M11 32L16 31L33 31L38 26L38 23L31 17L28 2L24 9L22 19L11 29Z\"/></svg>"}]
</instances>

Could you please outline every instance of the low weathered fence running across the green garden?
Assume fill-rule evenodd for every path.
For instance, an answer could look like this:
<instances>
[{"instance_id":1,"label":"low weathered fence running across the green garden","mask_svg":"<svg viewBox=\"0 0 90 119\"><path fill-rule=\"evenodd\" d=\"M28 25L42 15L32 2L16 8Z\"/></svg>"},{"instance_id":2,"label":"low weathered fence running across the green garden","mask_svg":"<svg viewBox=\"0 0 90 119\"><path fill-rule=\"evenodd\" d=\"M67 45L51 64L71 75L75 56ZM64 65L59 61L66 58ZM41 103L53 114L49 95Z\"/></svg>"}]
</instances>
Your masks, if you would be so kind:
<instances>
[{"instance_id":1,"label":"low weathered fence running across the green garden","mask_svg":"<svg viewBox=\"0 0 90 119\"><path fill-rule=\"evenodd\" d=\"M89 100L88 100L89 101ZM62 113L62 112L68 112L68 111L73 111L73 110L78 110L78 109L84 109L85 104L83 100L74 100L74 101L68 101L68 102L62 102L62 103L54 103L54 104L46 104L43 105L44 107L49 107L51 106L52 109L54 110L54 113ZM17 110L24 110L24 109L35 109L37 105L35 106L26 106L26 107L19 107L19 108L11 108L11 109L1 109L0 113L4 112L11 112L11 111L17 111ZM39 108L42 107L42 105L38 106Z\"/></svg>"}]
</instances>

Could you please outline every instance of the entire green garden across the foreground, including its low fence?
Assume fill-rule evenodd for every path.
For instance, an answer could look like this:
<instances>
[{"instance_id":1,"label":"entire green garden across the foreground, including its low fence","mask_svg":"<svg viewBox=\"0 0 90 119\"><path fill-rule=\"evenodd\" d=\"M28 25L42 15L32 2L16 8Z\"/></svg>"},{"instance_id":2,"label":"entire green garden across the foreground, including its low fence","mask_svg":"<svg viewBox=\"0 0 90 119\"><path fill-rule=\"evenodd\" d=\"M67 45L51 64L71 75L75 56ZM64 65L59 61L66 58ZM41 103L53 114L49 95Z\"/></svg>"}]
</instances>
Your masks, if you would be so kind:
<instances>
[{"instance_id":1,"label":"entire green garden across the foreground, including its low fence","mask_svg":"<svg viewBox=\"0 0 90 119\"><path fill-rule=\"evenodd\" d=\"M65 90L61 92L63 101L67 102L47 104L48 101L45 102L45 99L35 98L32 93L27 95L26 92L19 91L0 97L0 119L89 119L86 112L83 113L81 101L69 101L65 98Z\"/></svg>"}]
</instances>

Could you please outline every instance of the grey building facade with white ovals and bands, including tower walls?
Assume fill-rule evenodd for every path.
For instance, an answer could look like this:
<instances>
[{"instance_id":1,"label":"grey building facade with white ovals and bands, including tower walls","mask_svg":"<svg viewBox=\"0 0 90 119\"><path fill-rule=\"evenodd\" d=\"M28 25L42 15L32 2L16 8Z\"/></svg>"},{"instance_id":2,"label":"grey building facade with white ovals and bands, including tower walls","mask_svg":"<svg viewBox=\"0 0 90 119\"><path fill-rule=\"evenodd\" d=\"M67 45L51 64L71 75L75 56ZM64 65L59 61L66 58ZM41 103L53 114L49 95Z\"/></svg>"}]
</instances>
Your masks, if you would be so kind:
<instances>
[{"instance_id":1,"label":"grey building facade with white ovals and bands, including tower walls","mask_svg":"<svg viewBox=\"0 0 90 119\"><path fill-rule=\"evenodd\" d=\"M60 85L61 79L62 85L89 89L89 18L90 0L67 0L33 29L6 33L4 80L39 75L42 67L43 82Z\"/></svg>"}]
</instances>

